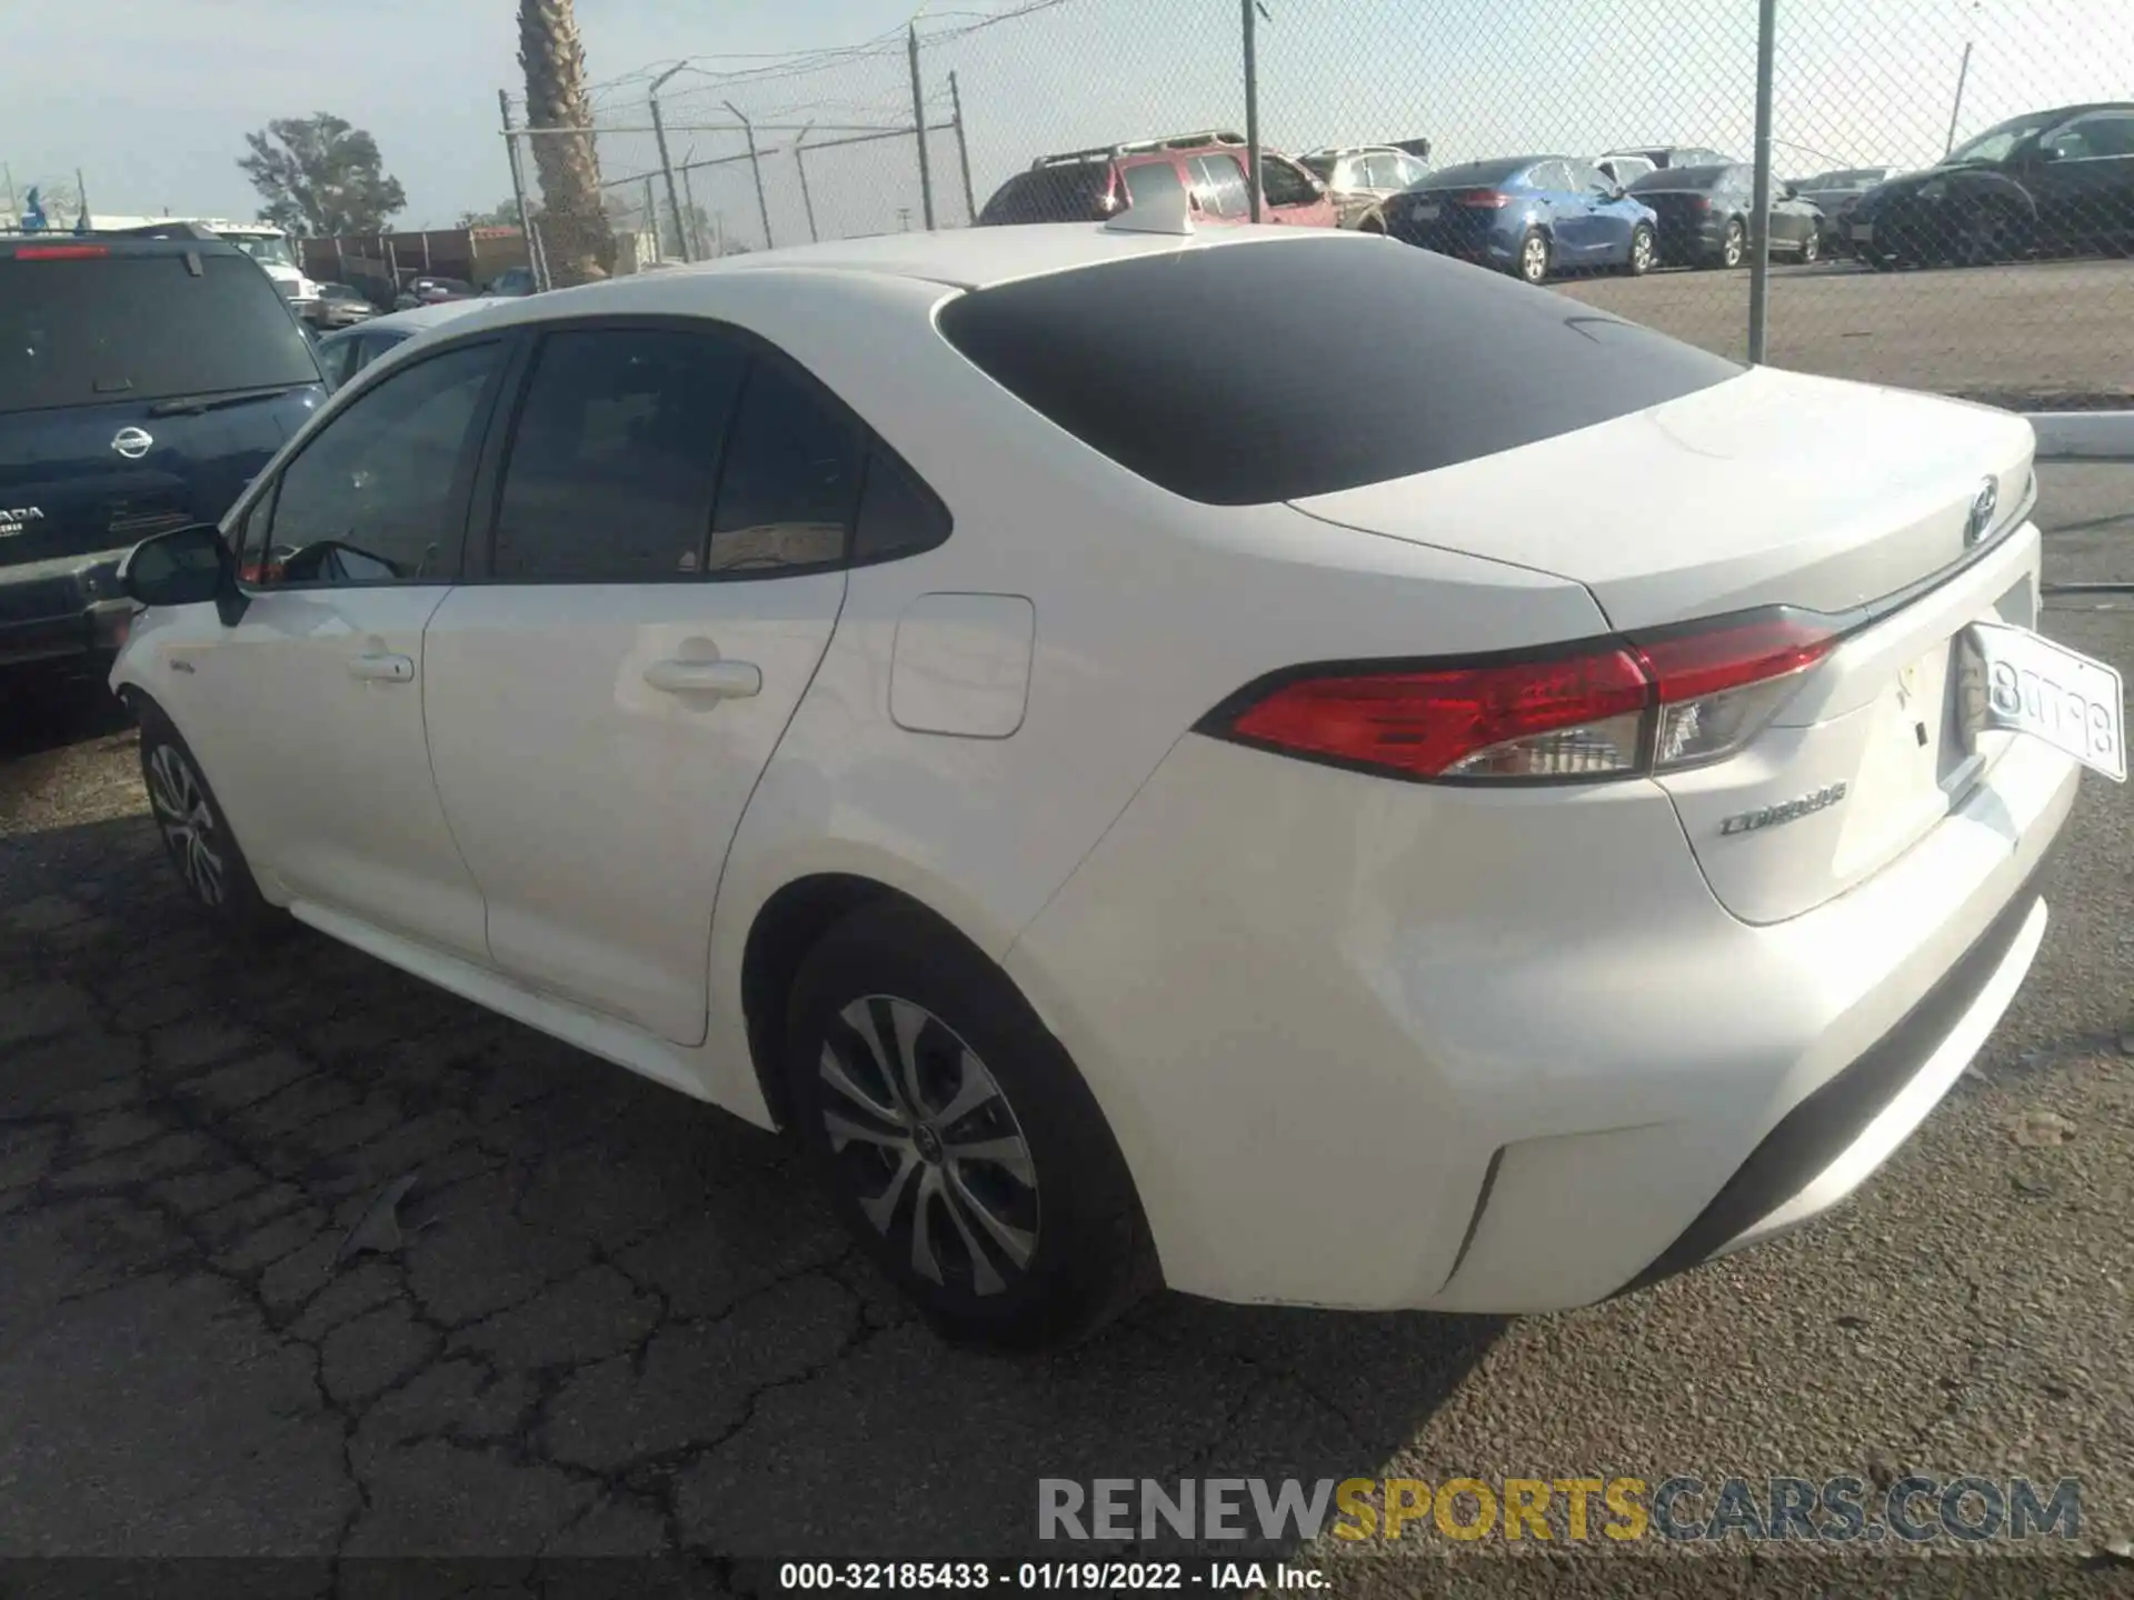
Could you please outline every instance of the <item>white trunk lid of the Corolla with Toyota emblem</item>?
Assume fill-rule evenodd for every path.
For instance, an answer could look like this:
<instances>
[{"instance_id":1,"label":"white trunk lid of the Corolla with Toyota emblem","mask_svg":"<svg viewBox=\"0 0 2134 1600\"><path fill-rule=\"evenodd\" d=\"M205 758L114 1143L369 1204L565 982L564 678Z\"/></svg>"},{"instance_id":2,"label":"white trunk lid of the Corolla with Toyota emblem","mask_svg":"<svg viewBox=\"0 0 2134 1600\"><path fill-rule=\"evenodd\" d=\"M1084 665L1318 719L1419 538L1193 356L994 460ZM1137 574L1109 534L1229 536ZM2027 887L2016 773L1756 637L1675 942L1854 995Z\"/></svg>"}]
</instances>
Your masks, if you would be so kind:
<instances>
[{"instance_id":1,"label":"white trunk lid of the Corolla with Toyota emblem","mask_svg":"<svg viewBox=\"0 0 2134 1600\"><path fill-rule=\"evenodd\" d=\"M2008 533L2036 493L2032 450L2006 412L1758 367L1522 450L1293 503L1575 578L1630 636L1758 606L1844 619L1846 642L1758 738L1658 779L1714 894L1746 922L1780 922L1910 849L2006 749L1961 725L1961 634L2036 623L2038 540Z\"/></svg>"}]
</instances>

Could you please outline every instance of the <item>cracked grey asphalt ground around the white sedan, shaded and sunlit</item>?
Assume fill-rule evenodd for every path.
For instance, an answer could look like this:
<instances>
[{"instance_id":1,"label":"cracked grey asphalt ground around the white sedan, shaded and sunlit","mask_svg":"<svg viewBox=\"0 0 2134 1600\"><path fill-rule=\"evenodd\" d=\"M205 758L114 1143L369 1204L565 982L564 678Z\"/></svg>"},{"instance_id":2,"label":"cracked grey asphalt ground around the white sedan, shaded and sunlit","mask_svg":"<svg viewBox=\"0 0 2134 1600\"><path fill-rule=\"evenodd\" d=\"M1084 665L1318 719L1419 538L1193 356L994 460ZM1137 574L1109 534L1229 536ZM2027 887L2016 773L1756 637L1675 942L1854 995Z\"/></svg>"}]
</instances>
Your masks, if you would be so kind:
<instances>
[{"instance_id":1,"label":"cracked grey asphalt ground around the white sedan, shaded and sunlit","mask_svg":"<svg viewBox=\"0 0 2134 1600\"><path fill-rule=\"evenodd\" d=\"M2044 478L2049 580L2134 578L2134 467ZM2051 604L2134 674L2134 595ZM0 1557L659 1555L751 1589L1026 1551L1041 1476L1216 1474L2079 1476L2079 1549L2134 1532L2108 783L1976 1069L1818 1227L1560 1316L1163 1297L1012 1361L915 1325L781 1141L318 937L218 945L98 691L4 715Z\"/></svg>"}]
</instances>

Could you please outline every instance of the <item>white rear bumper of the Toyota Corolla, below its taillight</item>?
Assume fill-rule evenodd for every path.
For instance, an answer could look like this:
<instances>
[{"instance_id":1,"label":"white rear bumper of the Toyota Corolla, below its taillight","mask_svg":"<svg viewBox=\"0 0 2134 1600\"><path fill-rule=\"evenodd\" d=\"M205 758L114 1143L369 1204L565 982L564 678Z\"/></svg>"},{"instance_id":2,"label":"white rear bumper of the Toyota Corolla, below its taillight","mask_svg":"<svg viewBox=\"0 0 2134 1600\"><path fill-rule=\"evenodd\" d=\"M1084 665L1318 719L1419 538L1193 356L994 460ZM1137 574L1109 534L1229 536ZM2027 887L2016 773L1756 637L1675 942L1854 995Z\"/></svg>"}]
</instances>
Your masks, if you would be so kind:
<instances>
[{"instance_id":1,"label":"white rear bumper of the Toyota Corolla, below its taillight","mask_svg":"<svg viewBox=\"0 0 2134 1600\"><path fill-rule=\"evenodd\" d=\"M2076 768L2017 745L1782 924L1654 785L1396 785L1184 740L1007 954L1174 1289L1541 1312L1784 1231L1961 1075Z\"/></svg>"}]
</instances>

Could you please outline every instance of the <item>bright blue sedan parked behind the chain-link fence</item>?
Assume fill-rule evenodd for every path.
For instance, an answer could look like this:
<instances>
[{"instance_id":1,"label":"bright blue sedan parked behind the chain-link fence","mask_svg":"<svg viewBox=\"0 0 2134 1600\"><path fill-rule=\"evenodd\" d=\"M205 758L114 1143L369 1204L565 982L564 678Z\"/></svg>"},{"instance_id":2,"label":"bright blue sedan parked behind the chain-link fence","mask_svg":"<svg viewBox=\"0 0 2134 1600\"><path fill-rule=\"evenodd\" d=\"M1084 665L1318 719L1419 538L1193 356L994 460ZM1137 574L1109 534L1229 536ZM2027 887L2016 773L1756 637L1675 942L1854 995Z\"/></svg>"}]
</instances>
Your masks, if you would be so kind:
<instances>
[{"instance_id":1,"label":"bright blue sedan parked behind the chain-link fence","mask_svg":"<svg viewBox=\"0 0 2134 1600\"><path fill-rule=\"evenodd\" d=\"M1385 201L1379 222L1394 239L1517 273L1528 284L1600 267L1647 273L1660 260L1652 209L1577 156L1445 166Z\"/></svg>"}]
</instances>

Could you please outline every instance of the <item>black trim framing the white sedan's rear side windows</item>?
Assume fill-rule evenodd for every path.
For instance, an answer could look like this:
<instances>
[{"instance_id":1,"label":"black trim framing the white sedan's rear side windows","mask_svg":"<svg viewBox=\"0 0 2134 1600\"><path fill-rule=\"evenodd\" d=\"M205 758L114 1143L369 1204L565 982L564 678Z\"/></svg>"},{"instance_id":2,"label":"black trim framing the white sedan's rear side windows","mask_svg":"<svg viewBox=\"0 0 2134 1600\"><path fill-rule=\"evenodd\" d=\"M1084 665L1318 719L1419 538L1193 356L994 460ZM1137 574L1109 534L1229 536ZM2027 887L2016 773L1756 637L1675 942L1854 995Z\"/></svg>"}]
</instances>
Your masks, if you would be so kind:
<instances>
[{"instance_id":1,"label":"black trim framing the white sedan's rear side windows","mask_svg":"<svg viewBox=\"0 0 2134 1600\"><path fill-rule=\"evenodd\" d=\"M726 414L726 427L719 435L719 469L711 484L711 506L704 510L704 538L698 544L698 570L694 574L672 574L659 578L499 578L495 570L495 542L497 542L497 516L504 508L504 474L510 465L510 446L519 433L519 416L525 410L527 395L534 388L534 371L540 356L540 346L559 333L691 333L704 337L723 337L740 346L747 356L747 365L740 373L740 388L734 395L734 405ZM924 555L926 550L941 548L956 531L956 514L950 510L947 501L935 491L935 486L920 474L888 439L881 431L871 427L864 416L860 416L845 399L837 395L822 378L807 369L805 363L794 358L787 350L779 348L775 341L745 329L738 322L723 322L713 316L679 316L679 314L653 314L653 311L593 311L572 318L553 318L542 322L527 322L512 329L519 335L519 352L506 363L506 390L499 401L491 407L489 431L482 437L480 459L476 465L472 493L467 499L467 538L461 559L459 582L467 587L493 587L493 589L553 589L553 587L578 587L578 589L634 589L644 585L687 585L687 582L777 582L779 578L809 578L822 572L851 572L854 567L877 567L888 561L903 561L913 555ZM755 373L755 363L768 361L794 375L805 390L809 390L826 412L845 425L851 435L851 495L845 506L845 542L843 555L834 561L817 561L813 565L787 565L787 567L708 567L711 559L711 525L719 512L719 493L726 489L726 467L730 461L728 444L732 439L734 425L740 420L740 405L747 401L749 378ZM875 457L886 457L890 465L903 476L905 484L911 486L922 499L933 503L941 512L943 533L933 544L920 548L888 550L883 555L854 557L854 540L858 535L860 503L866 493L866 474Z\"/></svg>"}]
</instances>

